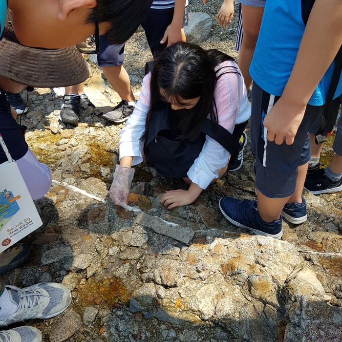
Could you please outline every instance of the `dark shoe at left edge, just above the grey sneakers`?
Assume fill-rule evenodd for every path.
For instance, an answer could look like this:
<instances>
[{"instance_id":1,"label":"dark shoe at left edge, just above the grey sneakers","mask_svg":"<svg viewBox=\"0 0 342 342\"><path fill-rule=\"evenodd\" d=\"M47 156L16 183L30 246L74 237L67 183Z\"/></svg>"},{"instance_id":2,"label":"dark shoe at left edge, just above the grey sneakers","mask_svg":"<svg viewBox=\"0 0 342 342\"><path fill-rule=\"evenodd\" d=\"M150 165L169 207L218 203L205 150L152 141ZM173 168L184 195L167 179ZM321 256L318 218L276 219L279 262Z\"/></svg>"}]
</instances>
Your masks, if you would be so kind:
<instances>
[{"instance_id":1,"label":"dark shoe at left edge, just above the grey sneakers","mask_svg":"<svg viewBox=\"0 0 342 342\"><path fill-rule=\"evenodd\" d=\"M30 247L26 243L16 243L0 253L0 275L22 264L30 255Z\"/></svg>"}]
</instances>

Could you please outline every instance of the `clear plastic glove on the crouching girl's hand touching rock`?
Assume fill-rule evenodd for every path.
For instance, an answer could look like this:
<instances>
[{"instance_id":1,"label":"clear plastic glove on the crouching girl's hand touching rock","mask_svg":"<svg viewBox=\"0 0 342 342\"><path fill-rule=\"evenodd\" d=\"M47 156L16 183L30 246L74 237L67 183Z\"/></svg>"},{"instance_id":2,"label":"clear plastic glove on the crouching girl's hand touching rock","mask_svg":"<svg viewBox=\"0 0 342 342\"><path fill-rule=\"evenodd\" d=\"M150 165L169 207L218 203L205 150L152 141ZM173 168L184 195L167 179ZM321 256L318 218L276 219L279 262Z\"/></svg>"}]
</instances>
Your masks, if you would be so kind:
<instances>
[{"instance_id":1,"label":"clear plastic glove on the crouching girl's hand touching rock","mask_svg":"<svg viewBox=\"0 0 342 342\"><path fill-rule=\"evenodd\" d=\"M113 174L113 183L109 189L109 196L114 204L126 208L130 185L134 176L134 169L117 165Z\"/></svg>"}]
</instances>

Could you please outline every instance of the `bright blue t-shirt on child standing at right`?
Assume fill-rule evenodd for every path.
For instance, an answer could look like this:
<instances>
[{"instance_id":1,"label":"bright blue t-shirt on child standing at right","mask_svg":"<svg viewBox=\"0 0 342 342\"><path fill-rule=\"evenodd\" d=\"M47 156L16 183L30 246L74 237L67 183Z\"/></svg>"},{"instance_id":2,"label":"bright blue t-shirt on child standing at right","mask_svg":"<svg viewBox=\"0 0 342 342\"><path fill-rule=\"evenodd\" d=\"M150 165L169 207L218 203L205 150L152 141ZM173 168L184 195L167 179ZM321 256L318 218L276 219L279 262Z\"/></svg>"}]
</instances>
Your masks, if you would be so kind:
<instances>
[{"instance_id":1,"label":"bright blue t-shirt on child standing at right","mask_svg":"<svg viewBox=\"0 0 342 342\"><path fill-rule=\"evenodd\" d=\"M267 0L256 43L250 74L263 90L280 96L290 77L305 30L302 3L306 0ZM323 76L309 104L324 105L334 71L334 63ZM334 97L342 93L340 78Z\"/></svg>"}]
</instances>

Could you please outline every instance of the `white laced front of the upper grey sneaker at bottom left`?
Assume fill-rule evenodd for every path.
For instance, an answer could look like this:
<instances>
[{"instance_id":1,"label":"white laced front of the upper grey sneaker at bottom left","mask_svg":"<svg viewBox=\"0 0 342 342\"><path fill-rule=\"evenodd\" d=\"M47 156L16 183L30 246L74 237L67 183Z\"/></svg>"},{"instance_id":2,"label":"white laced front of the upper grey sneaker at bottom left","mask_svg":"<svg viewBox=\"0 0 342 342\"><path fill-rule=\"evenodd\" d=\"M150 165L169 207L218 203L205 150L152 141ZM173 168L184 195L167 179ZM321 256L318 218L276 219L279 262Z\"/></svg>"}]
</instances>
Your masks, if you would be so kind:
<instances>
[{"instance_id":1,"label":"white laced front of the upper grey sneaker at bottom left","mask_svg":"<svg viewBox=\"0 0 342 342\"><path fill-rule=\"evenodd\" d=\"M6 286L12 290L15 290L19 296L19 308L18 311L11 317L15 321L28 320L35 317L36 314L43 312L47 306L45 298L50 298L44 294L44 290L40 287L30 287L27 290L19 289L15 286Z\"/></svg>"}]
</instances>

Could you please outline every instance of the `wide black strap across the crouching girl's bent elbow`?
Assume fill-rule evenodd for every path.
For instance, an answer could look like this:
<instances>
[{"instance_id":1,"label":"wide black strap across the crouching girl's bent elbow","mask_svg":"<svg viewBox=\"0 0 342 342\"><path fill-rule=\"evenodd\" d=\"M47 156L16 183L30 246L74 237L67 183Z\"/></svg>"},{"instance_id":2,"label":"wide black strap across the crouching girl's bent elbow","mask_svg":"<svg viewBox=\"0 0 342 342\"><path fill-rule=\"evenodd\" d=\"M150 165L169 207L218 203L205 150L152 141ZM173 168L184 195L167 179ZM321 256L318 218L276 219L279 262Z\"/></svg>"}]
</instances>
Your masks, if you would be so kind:
<instances>
[{"instance_id":1,"label":"wide black strap across the crouching girl's bent elbow","mask_svg":"<svg viewBox=\"0 0 342 342\"><path fill-rule=\"evenodd\" d=\"M230 154L238 151L241 148L239 141L226 128L217 125L217 129L213 130L212 121L205 119L202 132L224 147Z\"/></svg>"}]
</instances>

